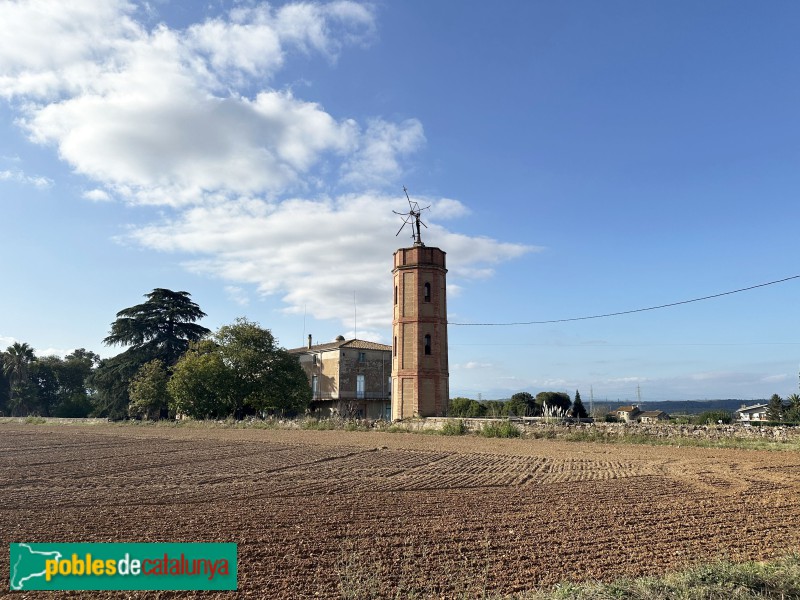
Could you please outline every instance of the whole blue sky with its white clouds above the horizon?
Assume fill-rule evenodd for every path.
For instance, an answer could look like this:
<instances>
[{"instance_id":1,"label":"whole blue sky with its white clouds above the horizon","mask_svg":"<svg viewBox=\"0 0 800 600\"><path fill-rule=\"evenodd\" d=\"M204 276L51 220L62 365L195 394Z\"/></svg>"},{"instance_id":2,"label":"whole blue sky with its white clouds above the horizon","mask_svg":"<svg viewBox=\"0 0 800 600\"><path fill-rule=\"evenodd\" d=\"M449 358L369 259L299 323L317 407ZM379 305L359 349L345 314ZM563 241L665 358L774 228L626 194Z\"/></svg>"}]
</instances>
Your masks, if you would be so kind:
<instances>
[{"instance_id":1,"label":"whole blue sky with its white clouds above the horizon","mask_svg":"<svg viewBox=\"0 0 800 600\"><path fill-rule=\"evenodd\" d=\"M155 287L286 347L388 342L403 185L454 322L798 275L799 27L789 1L5 0L0 345L113 355ZM451 395L785 396L799 295L453 325Z\"/></svg>"}]
</instances>

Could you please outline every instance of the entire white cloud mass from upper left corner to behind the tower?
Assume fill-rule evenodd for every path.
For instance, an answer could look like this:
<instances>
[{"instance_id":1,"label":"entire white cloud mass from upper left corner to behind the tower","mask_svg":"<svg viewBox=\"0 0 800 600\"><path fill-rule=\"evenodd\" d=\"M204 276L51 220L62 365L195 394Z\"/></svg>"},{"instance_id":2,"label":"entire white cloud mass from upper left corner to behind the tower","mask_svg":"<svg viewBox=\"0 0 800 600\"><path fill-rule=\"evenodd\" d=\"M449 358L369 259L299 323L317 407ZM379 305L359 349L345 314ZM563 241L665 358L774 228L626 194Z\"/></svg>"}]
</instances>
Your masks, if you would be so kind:
<instances>
[{"instance_id":1,"label":"entire white cloud mass from upper left corner to behind the tower","mask_svg":"<svg viewBox=\"0 0 800 600\"><path fill-rule=\"evenodd\" d=\"M355 291L359 331L386 327L391 256L408 243L392 210L405 201L364 190L394 185L423 126L358 123L269 87L290 52L335 61L369 43L372 9L249 2L186 29L148 28L142 12L125 0L0 3L0 96L30 139L89 180L89 200L167 207L128 239L189 256L234 301L254 286L287 312L352 327ZM457 200L414 199L431 205L424 239L447 250L453 292L535 250L445 228L469 212Z\"/></svg>"}]
</instances>

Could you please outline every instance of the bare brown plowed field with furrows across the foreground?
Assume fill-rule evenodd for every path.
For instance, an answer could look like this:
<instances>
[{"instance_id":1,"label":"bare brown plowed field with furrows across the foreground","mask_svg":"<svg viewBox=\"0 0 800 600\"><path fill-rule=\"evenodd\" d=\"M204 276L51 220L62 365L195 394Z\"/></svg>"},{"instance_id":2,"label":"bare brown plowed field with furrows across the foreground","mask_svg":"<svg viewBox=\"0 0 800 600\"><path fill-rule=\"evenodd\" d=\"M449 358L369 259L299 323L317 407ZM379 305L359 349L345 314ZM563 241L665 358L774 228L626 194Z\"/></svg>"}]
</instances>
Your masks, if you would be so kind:
<instances>
[{"instance_id":1,"label":"bare brown plowed field with furrows across the foreground","mask_svg":"<svg viewBox=\"0 0 800 600\"><path fill-rule=\"evenodd\" d=\"M6 590L10 542L236 542L239 595L472 597L766 559L798 522L795 452L0 424Z\"/></svg>"}]
</instances>

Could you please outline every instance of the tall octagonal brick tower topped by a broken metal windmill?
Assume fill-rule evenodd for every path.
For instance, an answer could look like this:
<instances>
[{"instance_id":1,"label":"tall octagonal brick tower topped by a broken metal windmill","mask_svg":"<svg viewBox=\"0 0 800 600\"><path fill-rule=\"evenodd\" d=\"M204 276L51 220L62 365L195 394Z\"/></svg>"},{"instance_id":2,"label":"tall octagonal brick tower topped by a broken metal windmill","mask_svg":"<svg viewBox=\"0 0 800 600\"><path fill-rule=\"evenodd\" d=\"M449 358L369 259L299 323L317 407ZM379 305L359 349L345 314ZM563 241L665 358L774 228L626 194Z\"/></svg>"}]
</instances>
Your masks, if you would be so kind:
<instances>
[{"instance_id":1,"label":"tall octagonal brick tower topped by a broken metal windmill","mask_svg":"<svg viewBox=\"0 0 800 600\"><path fill-rule=\"evenodd\" d=\"M414 245L394 253L392 419L444 416L450 398L445 253L422 243L423 209L408 198ZM397 232L397 235L400 234Z\"/></svg>"}]
</instances>

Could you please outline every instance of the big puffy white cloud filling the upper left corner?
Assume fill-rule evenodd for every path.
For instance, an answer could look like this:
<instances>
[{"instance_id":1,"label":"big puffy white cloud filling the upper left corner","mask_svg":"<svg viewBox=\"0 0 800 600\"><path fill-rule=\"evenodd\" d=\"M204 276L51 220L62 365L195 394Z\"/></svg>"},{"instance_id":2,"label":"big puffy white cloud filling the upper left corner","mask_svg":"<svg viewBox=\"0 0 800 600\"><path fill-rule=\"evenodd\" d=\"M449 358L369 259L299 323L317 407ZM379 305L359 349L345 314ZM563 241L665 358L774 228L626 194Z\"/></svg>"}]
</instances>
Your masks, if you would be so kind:
<instances>
[{"instance_id":1,"label":"big puffy white cloud filling the upper left corner","mask_svg":"<svg viewBox=\"0 0 800 600\"><path fill-rule=\"evenodd\" d=\"M134 8L114 0L0 4L0 94L22 100L18 122L33 141L57 147L115 196L182 205L208 194L305 190L318 183L312 169L321 161L377 144L373 127L362 134L288 91L238 91L250 89L244 75L263 86L292 49L335 58L370 35L368 9L338 2L276 13L262 3L185 31L148 31ZM384 165L374 173L392 171L392 153L421 135L418 123L384 128L396 135L382 138Z\"/></svg>"}]
</instances>

